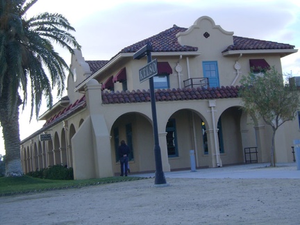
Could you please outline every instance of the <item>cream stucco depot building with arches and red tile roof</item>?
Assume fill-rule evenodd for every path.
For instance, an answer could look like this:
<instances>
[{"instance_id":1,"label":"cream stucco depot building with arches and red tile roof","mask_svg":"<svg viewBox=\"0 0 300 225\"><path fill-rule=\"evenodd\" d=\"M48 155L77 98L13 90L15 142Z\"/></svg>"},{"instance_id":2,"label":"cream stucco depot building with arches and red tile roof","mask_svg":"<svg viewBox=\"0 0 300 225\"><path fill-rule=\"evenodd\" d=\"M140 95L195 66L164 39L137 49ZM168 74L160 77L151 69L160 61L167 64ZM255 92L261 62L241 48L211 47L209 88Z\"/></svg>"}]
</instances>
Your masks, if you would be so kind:
<instances>
[{"instance_id":1,"label":"cream stucco depot building with arches and red tile roof","mask_svg":"<svg viewBox=\"0 0 300 225\"><path fill-rule=\"evenodd\" d=\"M190 168L191 152L197 168L270 162L272 129L244 112L240 79L270 67L282 72L281 58L297 49L235 36L203 16L189 28L174 25L124 47L110 60L85 60L74 50L67 96L21 142L24 173L58 164L73 167L75 179L118 175L121 140L131 149L131 172L155 171L149 79L140 82L147 57L133 58L148 42L158 70L153 85L164 172ZM298 137L298 118L278 128L277 163L293 161Z\"/></svg>"}]
</instances>

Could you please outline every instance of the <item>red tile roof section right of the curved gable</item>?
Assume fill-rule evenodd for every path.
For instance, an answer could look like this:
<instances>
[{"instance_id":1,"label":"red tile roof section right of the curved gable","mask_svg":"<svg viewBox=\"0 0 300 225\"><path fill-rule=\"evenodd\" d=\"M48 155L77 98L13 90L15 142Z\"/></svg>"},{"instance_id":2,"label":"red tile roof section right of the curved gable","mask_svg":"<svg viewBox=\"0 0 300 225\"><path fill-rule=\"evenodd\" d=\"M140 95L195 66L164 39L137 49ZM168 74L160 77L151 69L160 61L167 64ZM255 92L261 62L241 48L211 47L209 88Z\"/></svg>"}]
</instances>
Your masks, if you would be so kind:
<instances>
[{"instance_id":1,"label":"red tile roof section right of the curved gable","mask_svg":"<svg viewBox=\"0 0 300 225\"><path fill-rule=\"evenodd\" d=\"M294 45L233 36L233 45L228 46L224 51L222 51L222 53L226 51L235 51L235 50L270 50L270 49L294 49Z\"/></svg>"}]
</instances>

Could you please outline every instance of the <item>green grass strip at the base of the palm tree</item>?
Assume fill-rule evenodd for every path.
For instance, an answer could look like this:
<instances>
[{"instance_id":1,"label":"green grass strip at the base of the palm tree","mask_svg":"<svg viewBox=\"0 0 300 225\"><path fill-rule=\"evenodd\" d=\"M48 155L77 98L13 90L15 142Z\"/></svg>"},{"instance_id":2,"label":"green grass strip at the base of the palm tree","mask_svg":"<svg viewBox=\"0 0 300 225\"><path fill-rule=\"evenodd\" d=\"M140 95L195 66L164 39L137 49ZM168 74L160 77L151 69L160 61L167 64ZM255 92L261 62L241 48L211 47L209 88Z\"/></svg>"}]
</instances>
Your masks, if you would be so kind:
<instances>
[{"instance_id":1,"label":"green grass strip at the base of the palm tree","mask_svg":"<svg viewBox=\"0 0 300 225\"><path fill-rule=\"evenodd\" d=\"M124 181L137 181L144 178L129 176L113 176L88 180L47 180L33 178L31 176L1 177L0 197L13 194L26 194L29 192L42 192L47 190L59 190L67 188L81 188L88 185L101 185Z\"/></svg>"}]
</instances>

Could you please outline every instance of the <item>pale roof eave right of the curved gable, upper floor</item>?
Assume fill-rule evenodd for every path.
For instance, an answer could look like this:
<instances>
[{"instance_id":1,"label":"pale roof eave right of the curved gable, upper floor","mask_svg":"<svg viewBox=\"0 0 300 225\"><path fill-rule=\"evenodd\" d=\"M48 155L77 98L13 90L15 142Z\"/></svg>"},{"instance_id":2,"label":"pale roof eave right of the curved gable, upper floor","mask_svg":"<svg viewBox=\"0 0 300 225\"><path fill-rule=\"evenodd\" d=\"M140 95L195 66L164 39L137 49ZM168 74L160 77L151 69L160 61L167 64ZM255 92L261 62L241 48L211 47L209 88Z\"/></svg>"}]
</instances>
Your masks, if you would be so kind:
<instances>
[{"instance_id":1,"label":"pale roof eave right of the curved gable, upper floor","mask_svg":"<svg viewBox=\"0 0 300 225\"><path fill-rule=\"evenodd\" d=\"M281 57L296 53L298 49L263 49L263 50L234 50L222 53L222 56L234 56L240 54L280 54Z\"/></svg>"}]
</instances>

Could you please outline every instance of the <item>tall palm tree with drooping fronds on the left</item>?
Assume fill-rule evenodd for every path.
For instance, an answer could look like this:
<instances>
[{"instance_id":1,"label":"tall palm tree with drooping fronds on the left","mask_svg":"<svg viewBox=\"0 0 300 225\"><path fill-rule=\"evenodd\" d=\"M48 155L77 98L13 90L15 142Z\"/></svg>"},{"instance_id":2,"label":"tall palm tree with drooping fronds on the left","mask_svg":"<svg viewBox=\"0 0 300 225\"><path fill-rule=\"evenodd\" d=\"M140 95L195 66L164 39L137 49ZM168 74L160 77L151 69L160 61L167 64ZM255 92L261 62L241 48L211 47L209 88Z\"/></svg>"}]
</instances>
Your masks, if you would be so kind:
<instances>
[{"instance_id":1,"label":"tall palm tree with drooping fronds on the left","mask_svg":"<svg viewBox=\"0 0 300 225\"><path fill-rule=\"evenodd\" d=\"M26 18L26 12L38 0L0 0L0 123L6 148L6 176L22 176L19 138L19 106L27 103L31 90L31 116L38 119L42 97L52 106L51 89L58 96L65 89L69 67L51 42L70 53L80 49L69 31L75 29L60 14L48 12ZM48 74L46 74L47 69ZM29 82L29 83L28 83Z\"/></svg>"}]
</instances>

